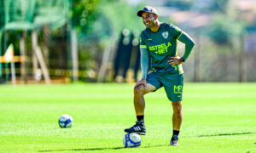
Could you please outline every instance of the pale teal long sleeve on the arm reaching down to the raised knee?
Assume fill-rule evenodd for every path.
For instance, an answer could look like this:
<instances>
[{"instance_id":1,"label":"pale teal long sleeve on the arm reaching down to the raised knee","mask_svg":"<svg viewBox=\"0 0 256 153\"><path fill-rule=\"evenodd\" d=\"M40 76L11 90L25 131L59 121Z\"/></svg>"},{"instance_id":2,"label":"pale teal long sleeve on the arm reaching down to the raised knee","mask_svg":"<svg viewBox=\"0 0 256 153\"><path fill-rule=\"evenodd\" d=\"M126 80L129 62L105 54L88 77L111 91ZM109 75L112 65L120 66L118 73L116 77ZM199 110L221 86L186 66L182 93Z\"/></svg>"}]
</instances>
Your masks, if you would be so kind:
<instances>
[{"instance_id":1,"label":"pale teal long sleeve on the arm reaching down to the raised knee","mask_svg":"<svg viewBox=\"0 0 256 153\"><path fill-rule=\"evenodd\" d=\"M148 73L148 49L143 42L143 37L140 37L140 51L141 51L141 67L142 67L142 73L143 73L143 78L147 78L147 73Z\"/></svg>"}]
</instances>

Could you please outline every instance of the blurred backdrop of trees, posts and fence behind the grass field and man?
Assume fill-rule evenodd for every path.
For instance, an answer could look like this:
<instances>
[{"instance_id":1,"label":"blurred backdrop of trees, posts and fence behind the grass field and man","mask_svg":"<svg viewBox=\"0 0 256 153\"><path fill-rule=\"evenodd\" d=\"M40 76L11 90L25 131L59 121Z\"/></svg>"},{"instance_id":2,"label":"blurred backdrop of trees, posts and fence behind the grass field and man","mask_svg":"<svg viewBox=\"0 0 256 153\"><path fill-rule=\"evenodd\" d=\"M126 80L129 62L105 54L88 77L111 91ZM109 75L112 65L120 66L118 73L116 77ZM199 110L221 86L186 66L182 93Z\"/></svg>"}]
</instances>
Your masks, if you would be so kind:
<instances>
[{"instance_id":1,"label":"blurred backdrop of trees, posts and fence behind the grass field and man","mask_svg":"<svg viewBox=\"0 0 256 153\"><path fill-rule=\"evenodd\" d=\"M255 0L0 0L0 82L137 82L145 5L195 40L185 81L256 81Z\"/></svg>"}]
</instances>

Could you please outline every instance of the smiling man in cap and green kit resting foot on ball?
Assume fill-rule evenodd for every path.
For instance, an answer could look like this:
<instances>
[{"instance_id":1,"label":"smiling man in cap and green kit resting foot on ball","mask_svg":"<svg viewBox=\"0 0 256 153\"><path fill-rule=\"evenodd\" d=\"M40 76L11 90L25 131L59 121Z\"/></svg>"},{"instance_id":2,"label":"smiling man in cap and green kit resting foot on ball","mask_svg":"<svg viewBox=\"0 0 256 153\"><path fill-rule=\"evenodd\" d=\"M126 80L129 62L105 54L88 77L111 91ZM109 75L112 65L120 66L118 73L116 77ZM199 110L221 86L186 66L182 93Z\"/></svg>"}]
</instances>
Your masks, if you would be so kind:
<instances>
[{"instance_id":1,"label":"smiling man in cap and green kit resting foot on ball","mask_svg":"<svg viewBox=\"0 0 256 153\"><path fill-rule=\"evenodd\" d=\"M183 68L181 64L188 59L195 42L177 26L160 23L158 13L153 7L146 6L137 12L137 16L143 18L143 24L146 26L140 36L143 78L134 87L134 107L137 122L134 126L126 128L125 132L146 134L143 95L164 87L168 99L172 101L173 108L173 134L170 144L178 145L178 134L183 122ZM177 56L177 40L185 44L183 57ZM148 54L151 57L153 71L149 74L147 74Z\"/></svg>"}]
</instances>

